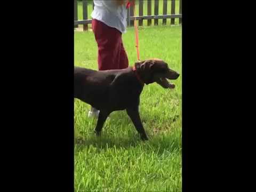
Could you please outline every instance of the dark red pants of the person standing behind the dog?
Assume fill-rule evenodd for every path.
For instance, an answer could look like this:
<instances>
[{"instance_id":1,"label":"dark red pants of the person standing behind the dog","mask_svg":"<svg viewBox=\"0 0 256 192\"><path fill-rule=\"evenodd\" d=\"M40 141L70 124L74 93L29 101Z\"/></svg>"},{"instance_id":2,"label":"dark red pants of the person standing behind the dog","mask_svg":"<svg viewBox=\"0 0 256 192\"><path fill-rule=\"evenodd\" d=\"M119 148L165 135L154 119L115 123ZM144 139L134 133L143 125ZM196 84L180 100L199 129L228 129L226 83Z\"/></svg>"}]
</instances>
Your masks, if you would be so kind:
<instances>
[{"instance_id":1,"label":"dark red pants of the person standing behind the dog","mask_svg":"<svg viewBox=\"0 0 256 192\"><path fill-rule=\"evenodd\" d=\"M129 66L122 33L96 19L92 20L92 30L98 44L99 70L124 69Z\"/></svg>"}]
</instances>

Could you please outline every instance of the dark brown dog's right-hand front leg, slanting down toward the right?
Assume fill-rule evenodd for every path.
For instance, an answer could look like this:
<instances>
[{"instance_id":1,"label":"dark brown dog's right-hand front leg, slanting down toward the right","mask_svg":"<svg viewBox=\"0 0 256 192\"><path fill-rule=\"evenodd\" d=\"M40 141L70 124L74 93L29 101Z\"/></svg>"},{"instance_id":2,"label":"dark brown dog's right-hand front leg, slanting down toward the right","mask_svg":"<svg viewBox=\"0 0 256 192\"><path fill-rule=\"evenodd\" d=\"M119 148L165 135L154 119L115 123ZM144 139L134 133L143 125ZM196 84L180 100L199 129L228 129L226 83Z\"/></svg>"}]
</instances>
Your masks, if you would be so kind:
<instances>
[{"instance_id":1,"label":"dark brown dog's right-hand front leg, slanting down toward the right","mask_svg":"<svg viewBox=\"0 0 256 192\"><path fill-rule=\"evenodd\" d=\"M140 114L139 114L139 106L133 106L126 109L127 114L132 120L132 123L134 124L135 128L140 134L140 138L142 140L148 140L147 134L145 132L145 129L143 128L143 125L141 123Z\"/></svg>"}]
</instances>

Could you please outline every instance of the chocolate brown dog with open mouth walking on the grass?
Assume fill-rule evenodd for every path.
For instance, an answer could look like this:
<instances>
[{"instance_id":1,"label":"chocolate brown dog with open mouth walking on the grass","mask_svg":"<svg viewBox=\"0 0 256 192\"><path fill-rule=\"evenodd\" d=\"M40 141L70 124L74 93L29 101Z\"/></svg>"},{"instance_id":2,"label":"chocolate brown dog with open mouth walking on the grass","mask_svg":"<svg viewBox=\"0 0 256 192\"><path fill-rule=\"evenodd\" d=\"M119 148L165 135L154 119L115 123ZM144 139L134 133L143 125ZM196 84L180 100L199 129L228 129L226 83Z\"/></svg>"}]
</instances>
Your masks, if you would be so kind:
<instances>
[{"instance_id":1,"label":"chocolate brown dog with open mouth walking on the grass","mask_svg":"<svg viewBox=\"0 0 256 192\"><path fill-rule=\"evenodd\" d=\"M108 115L126 109L142 140L148 140L139 115L140 93L144 84L158 83L165 89L174 88L167 79L179 74L159 59L135 62L133 67L96 71L75 67L74 98L100 110L94 132L100 135Z\"/></svg>"}]
</instances>

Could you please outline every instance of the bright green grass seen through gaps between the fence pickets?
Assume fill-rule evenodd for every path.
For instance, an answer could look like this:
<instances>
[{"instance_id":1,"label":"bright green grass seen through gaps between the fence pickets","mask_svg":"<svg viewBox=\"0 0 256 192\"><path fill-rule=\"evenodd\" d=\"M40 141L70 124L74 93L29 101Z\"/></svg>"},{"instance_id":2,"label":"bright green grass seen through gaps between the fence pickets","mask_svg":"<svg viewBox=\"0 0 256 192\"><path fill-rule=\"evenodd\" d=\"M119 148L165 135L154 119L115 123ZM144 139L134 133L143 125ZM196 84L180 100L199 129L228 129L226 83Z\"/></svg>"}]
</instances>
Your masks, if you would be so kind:
<instances>
[{"instance_id":1,"label":"bright green grass seen through gaps between the fence pickets","mask_svg":"<svg viewBox=\"0 0 256 192\"><path fill-rule=\"evenodd\" d=\"M151 14L154 15L154 9L155 9L155 1L151 1ZM78 9L77 9L77 14L78 14L78 20L83 20L83 3L82 1L77 2ZM139 15L139 2L136 1L136 15ZM162 15L163 14L163 1L159 0L159 5L158 5L158 14ZM179 9L180 9L180 1L175 1L175 14L179 14ZM88 8L87 8L87 13L88 13L88 18L92 19L91 13L92 13L92 1L88 2ZM147 15L148 13L148 5L147 1L143 1L143 15ZM171 1L167 1L167 14L171 14ZM179 19L175 18L175 25L179 24ZM138 22L138 21L137 21ZM151 25L154 25L154 19L151 21ZM162 25L163 19L158 20L158 25ZM143 20L143 26L147 26L148 21ZM171 25L171 19L166 20L166 25ZM79 27L82 27L83 25L79 25ZM91 25L89 25L91 27Z\"/></svg>"}]
</instances>

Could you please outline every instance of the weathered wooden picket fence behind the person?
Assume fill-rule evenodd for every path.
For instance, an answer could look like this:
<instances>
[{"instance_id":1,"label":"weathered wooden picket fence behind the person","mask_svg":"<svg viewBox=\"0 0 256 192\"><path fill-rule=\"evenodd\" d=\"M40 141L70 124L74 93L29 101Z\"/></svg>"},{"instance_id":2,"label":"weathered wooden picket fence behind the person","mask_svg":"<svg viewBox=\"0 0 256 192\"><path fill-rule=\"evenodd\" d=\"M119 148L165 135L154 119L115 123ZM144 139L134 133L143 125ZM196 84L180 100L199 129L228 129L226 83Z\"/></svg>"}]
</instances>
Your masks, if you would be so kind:
<instances>
[{"instance_id":1,"label":"weathered wooden picket fence behind the person","mask_svg":"<svg viewBox=\"0 0 256 192\"><path fill-rule=\"evenodd\" d=\"M143 15L143 1L147 1L147 15ZM179 24L182 21L182 0L179 1L179 14L175 14L175 0L160 0L163 2L163 7L159 7L159 0L154 1L154 15L151 13L151 0L139 0L139 15L136 15L136 20L139 21L139 26L143 25L143 20L147 20L147 25L151 26L151 20L154 19L154 25L158 25L158 19L163 19L163 25L166 25L166 19L171 19L171 25L174 25L175 18L179 18ZM77 1L74 0L74 27L78 25L83 25L83 30L88 30L88 24L92 23L91 19L88 19L88 15L91 14L88 12L89 1L83 0L83 20L78 20L78 5ZM167 7L171 6L171 14L167 14ZM92 6L92 9L94 4ZM163 9L163 14L159 15L159 9ZM127 26L134 25L134 13L133 7L130 7L127 11Z\"/></svg>"}]
</instances>

